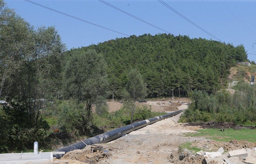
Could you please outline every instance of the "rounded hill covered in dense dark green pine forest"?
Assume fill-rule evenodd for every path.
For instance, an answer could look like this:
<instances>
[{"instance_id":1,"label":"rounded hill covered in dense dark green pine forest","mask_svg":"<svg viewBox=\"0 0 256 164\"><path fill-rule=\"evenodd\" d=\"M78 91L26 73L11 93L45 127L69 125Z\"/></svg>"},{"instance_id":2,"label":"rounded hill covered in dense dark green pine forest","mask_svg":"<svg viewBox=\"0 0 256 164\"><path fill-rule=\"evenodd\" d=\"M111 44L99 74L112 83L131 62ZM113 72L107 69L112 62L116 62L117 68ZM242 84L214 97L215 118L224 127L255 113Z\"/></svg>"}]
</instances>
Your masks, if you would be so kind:
<instances>
[{"instance_id":1,"label":"rounded hill covered in dense dark green pine forest","mask_svg":"<svg viewBox=\"0 0 256 164\"><path fill-rule=\"evenodd\" d=\"M131 68L141 72L148 96L155 97L169 95L170 89L216 90L235 62L248 60L243 45L167 34L133 35L79 49L95 49L105 57L109 90L115 96L120 96Z\"/></svg>"}]
</instances>

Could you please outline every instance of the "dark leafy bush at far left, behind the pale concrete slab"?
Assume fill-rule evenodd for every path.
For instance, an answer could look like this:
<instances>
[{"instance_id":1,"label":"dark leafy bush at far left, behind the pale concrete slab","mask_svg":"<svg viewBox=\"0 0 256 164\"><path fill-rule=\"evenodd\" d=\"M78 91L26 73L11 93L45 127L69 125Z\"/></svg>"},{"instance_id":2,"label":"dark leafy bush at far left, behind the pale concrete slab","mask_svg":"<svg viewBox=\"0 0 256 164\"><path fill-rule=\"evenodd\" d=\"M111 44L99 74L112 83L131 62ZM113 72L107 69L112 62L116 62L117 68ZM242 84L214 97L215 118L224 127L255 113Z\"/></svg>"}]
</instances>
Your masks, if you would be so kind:
<instances>
[{"instance_id":1,"label":"dark leafy bush at far left, behind the pale concrete slab","mask_svg":"<svg viewBox=\"0 0 256 164\"><path fill-rule=\"evenodd\" d=\"M37 141L44 146L50 133L49 125L40 117L35 124L29 120L28 110L24 104L10 102L0 108L0 152L10 152L33 148Z\"/></svg>"}]
</instances>

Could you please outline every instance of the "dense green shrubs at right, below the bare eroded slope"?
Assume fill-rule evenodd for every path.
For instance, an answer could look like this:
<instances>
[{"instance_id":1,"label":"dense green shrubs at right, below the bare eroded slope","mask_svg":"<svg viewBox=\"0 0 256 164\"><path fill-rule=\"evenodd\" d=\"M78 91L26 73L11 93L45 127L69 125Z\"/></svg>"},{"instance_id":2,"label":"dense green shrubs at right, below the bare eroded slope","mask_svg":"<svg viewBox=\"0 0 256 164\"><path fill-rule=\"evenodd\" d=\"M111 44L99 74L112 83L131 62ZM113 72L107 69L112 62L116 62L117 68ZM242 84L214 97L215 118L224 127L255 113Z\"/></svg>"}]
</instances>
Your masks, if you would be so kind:
<instances>
[{"instance_id":1,"label":"dense green shrubs at right, below the bare eroded slope","mask_svg":"<svg viewBox=\"0 0 256 164\"><path fill-rule=\"evenodd\" d=\"M219 91L211 94L206 92L190 92L193 101L180 122L233 122L235 124L256 123L256 86L239 83L234 87L235 94Z\"/></svg>"}]
</instances>

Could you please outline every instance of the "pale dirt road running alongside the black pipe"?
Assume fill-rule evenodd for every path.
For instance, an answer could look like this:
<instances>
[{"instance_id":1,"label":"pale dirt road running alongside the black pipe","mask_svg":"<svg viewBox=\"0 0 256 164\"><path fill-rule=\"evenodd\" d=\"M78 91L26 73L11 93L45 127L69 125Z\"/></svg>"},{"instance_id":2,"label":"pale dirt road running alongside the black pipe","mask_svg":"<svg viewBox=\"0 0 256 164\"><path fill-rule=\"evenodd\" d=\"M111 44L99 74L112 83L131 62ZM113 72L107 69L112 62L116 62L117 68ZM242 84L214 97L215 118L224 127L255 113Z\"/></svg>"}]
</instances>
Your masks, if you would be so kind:
<instances>
[{"instance_id":1,"label":"pale dirt road running alongside the black pipe","mask_svg":"<svg viewBox=\"0 0 256 164\"><path fill-rule=\"evenodd\" d=\"M100 144L112 156L99 164L170 163L171 154L178 154L178 145L181 143L205 140L183 136L187 132L196 132L199 127L177 123L180 115L158 121L112 142Z\"/></svg>"}]
</instances>

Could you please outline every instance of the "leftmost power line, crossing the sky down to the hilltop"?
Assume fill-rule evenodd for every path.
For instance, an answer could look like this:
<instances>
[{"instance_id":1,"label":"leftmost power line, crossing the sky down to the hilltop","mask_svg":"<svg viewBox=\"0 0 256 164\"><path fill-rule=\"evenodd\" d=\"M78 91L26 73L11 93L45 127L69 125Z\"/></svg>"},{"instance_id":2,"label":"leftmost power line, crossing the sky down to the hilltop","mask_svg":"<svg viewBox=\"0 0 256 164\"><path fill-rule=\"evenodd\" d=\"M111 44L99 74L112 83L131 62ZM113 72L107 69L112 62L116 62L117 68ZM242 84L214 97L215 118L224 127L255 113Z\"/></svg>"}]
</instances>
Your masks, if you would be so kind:
<instances>
[{"instance_id":1,"label":"leftmost power line, crossing the sky down to the hilltop","mask_svg":"<svg viewBox=\"0 0 256 164\"><path fill-rule=\"evenodd\" d=\"M54 12L56 12L56 13L60 13L60 14L63 14L63 15L65 15L65 16L68 16L68 17L71 17L71 18L77 19L77 20L79 20L79 21L83 21L83 22L86 22L86 23L89 23L89 24L95 25L95 26L100 27L100 28L102 28L102 29L110 30L110 31L112 31L112 32L116 32L116 33L119 33L119 34L122 34L122 35L125 35L125 36L130 37L130 35L127 35L127 34L125 34L125 33L118 32L118 31L116 31L116 30L109 29L109 28L104 27L104 26L102 26L102 25L98 25L98 24L95 24L95 23L92 23L92 22L86 21L86 20L84 20L84 19L77 18L77 17L75 17L75 16L71 16L71 15L69 15L69 14L63 13L63 12L58 11L58 10L54 10L54 9L49 8L49 7L47 7L47 6L40 5L39 3L32 2L32 1L30 1L30 0L25 0L25 1L30 2L30 3L32 3L32 4L34 4L34 5L37 5L37 6L41 6L41 7L43 7L43 8L48 9L48 10L52 10L52 11L54 11Z\"/></svg>"}]
</instances>

